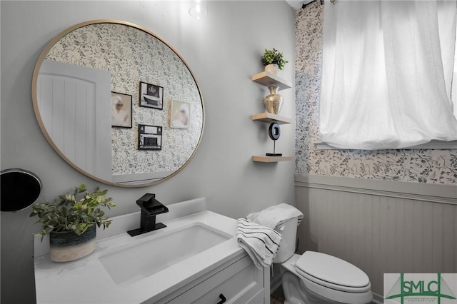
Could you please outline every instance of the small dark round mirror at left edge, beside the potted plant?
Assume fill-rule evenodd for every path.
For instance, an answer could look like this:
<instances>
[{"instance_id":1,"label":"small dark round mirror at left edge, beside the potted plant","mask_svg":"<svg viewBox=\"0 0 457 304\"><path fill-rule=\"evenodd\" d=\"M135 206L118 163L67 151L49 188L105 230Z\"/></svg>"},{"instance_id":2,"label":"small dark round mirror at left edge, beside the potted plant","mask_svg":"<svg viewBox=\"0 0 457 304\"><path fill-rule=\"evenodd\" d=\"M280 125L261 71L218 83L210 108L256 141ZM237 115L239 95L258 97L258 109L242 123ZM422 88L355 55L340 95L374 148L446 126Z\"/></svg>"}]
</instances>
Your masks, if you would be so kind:
<instances>
[{"instance_id":1,"label":"small dark round mirror at left edge, beside the potted plant","mask_svg":"<svg viewBox=\"0 0 457 304\"><path fill-rule=\"evenodd\" d=\"M38 176L23 169L7 169L0 173L0 211L25 209L39 198L41 181Z\"/></svg>"}]
</instances>

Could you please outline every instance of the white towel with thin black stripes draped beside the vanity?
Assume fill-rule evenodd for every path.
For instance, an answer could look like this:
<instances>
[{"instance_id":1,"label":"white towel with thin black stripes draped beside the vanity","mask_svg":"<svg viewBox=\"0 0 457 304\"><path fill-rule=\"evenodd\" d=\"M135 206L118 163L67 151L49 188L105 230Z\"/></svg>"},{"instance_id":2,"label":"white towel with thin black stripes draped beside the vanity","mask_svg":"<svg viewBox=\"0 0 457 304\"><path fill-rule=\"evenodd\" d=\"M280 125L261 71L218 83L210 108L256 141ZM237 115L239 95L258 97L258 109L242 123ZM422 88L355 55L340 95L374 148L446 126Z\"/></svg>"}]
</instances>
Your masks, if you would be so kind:
<instances>
[{"instance_id":1,"label":"white towel with thin black stripes draped beside the vanity","mask_svg":"<svg viewBox=\"0 0 457 304\"><path fill-rule=\"evenodd\" d=\"M259 268L268 267L278 253L281 234L276 230L252 223L246 218L238 218L236 240Z\"/></svg>"}]
</instances>

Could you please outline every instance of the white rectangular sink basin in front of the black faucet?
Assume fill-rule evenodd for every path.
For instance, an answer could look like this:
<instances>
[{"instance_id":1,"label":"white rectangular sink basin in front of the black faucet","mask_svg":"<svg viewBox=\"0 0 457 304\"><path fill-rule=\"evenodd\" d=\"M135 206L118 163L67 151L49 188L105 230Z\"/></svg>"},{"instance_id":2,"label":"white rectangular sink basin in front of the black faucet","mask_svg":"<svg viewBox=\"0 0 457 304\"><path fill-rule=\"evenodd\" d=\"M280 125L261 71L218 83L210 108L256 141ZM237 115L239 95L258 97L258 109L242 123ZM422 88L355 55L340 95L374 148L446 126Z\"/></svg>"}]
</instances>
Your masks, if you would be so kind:
<instances>
[{"instance_id":1,"label":"white rectangular sink basin in front of the black faucet","mask_svg":"<svg viewBox=\"0 0 457 304\"><path fill-rule=\"evenodd\" d=\"M192 223L175 230L158 230L139 243L99 256L116 285L147 278L181 260L218 245L233 235L204 223Z\"/></svg>"}]
</instances>

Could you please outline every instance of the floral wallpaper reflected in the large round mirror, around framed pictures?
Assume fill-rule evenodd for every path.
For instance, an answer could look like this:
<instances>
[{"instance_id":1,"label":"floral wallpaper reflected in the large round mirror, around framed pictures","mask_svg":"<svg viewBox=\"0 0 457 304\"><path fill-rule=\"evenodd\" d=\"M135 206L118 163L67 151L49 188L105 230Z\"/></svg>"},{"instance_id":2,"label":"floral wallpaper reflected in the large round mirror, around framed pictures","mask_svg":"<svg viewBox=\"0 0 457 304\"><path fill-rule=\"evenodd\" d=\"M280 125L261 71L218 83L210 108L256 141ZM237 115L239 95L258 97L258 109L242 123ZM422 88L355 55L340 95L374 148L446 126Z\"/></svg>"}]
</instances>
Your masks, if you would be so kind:
<instances>
[{"instance_id":1,"label":"floral wallpaper reflected in the large round mirror, around framed pictures","mask_svg":"<svg viewBox=\"0 0 457 304\"><path fill-rule=\"evenodd\" d=\"M111 128L114 175L175 171L194 153L204 115L199 88L179 56L156 37L122 24L91 24L66 34L46 59L109 71L111 91L133 96L133 128ZM164 87L163 110L139 106L140 81ZM169 127L172 99L191 103L188 129ZM160 151L137 149L138 124L164 127Z\"/></svg>"}]
</instances>

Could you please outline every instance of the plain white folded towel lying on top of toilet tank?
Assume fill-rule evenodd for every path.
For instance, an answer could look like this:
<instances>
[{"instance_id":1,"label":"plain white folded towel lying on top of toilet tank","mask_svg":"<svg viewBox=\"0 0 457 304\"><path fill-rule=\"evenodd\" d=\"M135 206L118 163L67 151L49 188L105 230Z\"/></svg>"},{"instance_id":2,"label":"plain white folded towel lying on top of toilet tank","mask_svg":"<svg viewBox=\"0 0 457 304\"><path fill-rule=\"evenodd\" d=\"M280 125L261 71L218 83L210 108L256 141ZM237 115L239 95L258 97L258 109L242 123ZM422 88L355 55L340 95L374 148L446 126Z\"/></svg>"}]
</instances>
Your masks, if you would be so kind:
<instances>
[{"instance_id":1,"label":"plain white folded towel lying on top of toilet tank","mask_svg":"<svg viewBox=\"0 0 457 304\"><path fill-rule=\"evenodd\" d=\"M291 205L279 203L263 211L251 213L246 218L251 222L274 229L291 218L298 218L297 225L299 225L303 220L303 213Z\"/></svg>"}]
</instances>

